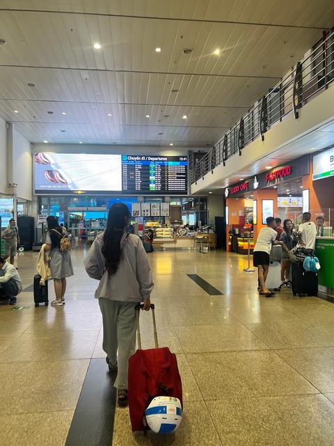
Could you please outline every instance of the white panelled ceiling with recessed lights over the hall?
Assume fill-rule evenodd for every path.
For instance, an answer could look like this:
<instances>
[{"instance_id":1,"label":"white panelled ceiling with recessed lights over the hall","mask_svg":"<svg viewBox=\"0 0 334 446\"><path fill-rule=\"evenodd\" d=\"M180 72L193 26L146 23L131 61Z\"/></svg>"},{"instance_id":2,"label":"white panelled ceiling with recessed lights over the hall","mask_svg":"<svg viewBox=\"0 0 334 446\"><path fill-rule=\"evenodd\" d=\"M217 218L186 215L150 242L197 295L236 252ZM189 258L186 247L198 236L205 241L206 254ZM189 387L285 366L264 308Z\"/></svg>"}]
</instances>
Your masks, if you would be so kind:
<instances>
[{"instance_id":1,"label":"white panelled ceiling with recessed lights over the hall","mask_svg":"<svg viewBox=\"0 0 334 446\"><path fill-rule=\"evenodd\" d=\"M333 17L327 0L0 0L0 117L36 142L210 146Z\"/></svg>"}]
</instances>

